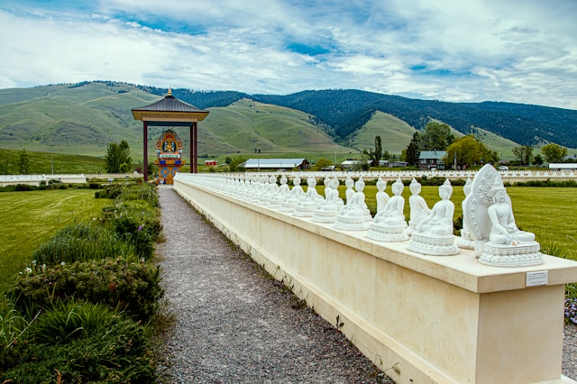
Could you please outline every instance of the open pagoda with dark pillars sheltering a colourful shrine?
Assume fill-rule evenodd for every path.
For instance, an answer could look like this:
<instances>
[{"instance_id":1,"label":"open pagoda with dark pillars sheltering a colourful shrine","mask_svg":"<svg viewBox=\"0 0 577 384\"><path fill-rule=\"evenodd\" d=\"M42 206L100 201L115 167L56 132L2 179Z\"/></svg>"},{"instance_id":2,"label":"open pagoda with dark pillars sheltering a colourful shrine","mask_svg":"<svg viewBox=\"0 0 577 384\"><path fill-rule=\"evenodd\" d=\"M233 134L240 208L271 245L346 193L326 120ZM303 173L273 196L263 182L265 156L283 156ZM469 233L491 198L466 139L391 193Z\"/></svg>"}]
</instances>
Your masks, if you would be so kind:
<instances>
[{"instance_id":1,"label":"open pagoda with dark pillars sheltering a colourful shrine","mask_svg":"<svg viewBox=\"0 0 577 384\"><path fill-rule=\"evenodd\" d=\"M166 127L176 127L176 126L188 126L190 127L190 173L197 173L198 171L198 153L197 153L197 122L201 122L205 119L208 111L198 109L194 105L189 105L178 98L172 96L172 91L169 89L169 93L160 101L146 106L141 106L140 108L133 108L134 120L141 120L143 125L143 137L144 137L144 152L143 152L143 173L144 181L148 181L148 127L149 126L166 126ZM160 141L167 137L167 133L171 132L168 130L161 135ZM161 145L162 153L159 153L157 164L160 167L160 172L165 172L165 179L171 182L173 172L175 169L179 169L179 166L183 163L176 163L176 157L178 154L181 155L181 151L173 151L175 154L170 156L168 152L165 152L165 148ZM160 157L160 154L163 157ZM170 164L167 164L166 158L172 158ZM180 160L180 158L179 158ZM176 167L178 166L178 167ZM162 168L164 167L164 169ZM175 168L176 167L176 168ZM170 177L168 177L170 175Z\"/></svg>"}]
</instances>

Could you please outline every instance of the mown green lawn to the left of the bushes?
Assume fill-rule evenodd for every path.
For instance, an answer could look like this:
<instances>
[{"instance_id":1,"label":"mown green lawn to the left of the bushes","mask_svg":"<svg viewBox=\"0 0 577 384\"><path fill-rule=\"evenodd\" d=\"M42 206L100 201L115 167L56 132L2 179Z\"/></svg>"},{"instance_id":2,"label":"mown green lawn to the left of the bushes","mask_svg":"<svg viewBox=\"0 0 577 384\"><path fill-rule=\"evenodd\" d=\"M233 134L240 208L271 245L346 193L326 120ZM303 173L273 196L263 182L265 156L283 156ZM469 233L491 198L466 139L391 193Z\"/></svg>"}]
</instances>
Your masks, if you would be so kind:
<instances>
[{"instance_id":1,"label":"mown green lawn to the left of the bushes","mask_svg":"<svg viewBox=\"0 0 577 384\"><path fill-rule=\"evenodd\" d=\"M100 215L111 200L91 189L0 193L0 292L23 270L34 251L62 226Z\"/></svg>"}]
</instances>

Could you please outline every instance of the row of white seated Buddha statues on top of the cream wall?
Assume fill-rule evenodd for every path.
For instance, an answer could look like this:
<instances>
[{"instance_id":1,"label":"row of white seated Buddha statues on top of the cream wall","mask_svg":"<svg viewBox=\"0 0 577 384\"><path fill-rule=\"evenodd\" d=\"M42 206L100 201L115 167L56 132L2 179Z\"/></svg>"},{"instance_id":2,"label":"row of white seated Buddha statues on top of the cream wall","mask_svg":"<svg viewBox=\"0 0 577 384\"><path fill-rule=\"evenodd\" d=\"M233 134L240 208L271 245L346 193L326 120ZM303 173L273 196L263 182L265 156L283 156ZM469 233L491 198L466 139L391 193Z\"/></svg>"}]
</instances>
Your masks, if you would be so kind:
<instances>
[{"instance_id":1,"label":"row of white seated Buddha statues on top of the cream wall","mask_svg":"<svg viewBox=\"0 0 577 384\"><path fill-rule=\"evenodd\" d=\"M458 254L460 248L475 250L483 264L503 267L532 266L544 263L540 245L533 233L520 231L515 224L511 200L499 172L484 166L473 180L463 187L463 229L460 237L453 235L454 205L450 200L453 187L447 179L439 187L441 200L432 209L420 197L421 185L415 178L410 183L410 218L403 213L403 182L392 184L392 197L385 192L387 182L377 181L377 213L371 216L363 193L364 181L345 180L346 204L339 197L337 178L325 178L325 197L316 191L316 178L307 178L307 192L300 178L277 177L228 180L224 190L254 204L278 209L289 215L310 218L313 222L333 224L342 231L366 231L366 237L378 242L408 242L408 251L435 256Z\"/></svg>"}]
</instances>

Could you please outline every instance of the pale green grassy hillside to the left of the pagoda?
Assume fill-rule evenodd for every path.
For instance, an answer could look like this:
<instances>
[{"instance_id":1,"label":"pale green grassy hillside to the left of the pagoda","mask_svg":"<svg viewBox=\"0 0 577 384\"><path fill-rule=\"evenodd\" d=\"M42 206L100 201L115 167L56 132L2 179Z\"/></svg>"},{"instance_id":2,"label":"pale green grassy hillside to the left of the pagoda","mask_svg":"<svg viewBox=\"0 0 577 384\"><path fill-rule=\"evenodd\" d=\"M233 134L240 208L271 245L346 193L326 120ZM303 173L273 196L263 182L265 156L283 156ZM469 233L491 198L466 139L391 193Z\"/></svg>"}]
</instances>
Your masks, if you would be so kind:
<instances>
[{"instance_id":1,"label":"pale green grassy hillside to the left of the pagoda","mask_svg":"<svg viewBox=\"0 0 577 384\"><path fill-rule=\"evenodd\" d=\"M159 99L132 86L102 83L21 91L0 92L1 148L91 156L104 156L108 142L127 140L138 148L142 124L133 120L131 109ZM20 101L6 104L11 97Z\"/></svg>"}]
</instances>

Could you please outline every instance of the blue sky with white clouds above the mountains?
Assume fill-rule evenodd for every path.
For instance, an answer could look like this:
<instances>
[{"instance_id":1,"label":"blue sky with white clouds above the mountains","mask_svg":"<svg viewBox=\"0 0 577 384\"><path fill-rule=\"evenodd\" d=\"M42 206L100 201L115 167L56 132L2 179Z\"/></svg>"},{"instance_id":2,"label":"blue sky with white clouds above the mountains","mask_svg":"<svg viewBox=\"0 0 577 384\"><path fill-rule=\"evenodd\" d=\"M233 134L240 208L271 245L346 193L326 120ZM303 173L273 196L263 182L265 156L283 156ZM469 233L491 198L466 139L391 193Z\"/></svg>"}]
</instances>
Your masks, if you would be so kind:
<instances>
[{"instance_id":1,"label":"blue sky with white clouds above the mountains","mask_svg":"<svg viewBox=\"0 0 577 384\"><path fill-rule=\"evenodd\" d=\"M2 0L0 87L354 88L577 109L574 0Z\"/></svg>"}]
</instances>

